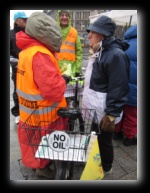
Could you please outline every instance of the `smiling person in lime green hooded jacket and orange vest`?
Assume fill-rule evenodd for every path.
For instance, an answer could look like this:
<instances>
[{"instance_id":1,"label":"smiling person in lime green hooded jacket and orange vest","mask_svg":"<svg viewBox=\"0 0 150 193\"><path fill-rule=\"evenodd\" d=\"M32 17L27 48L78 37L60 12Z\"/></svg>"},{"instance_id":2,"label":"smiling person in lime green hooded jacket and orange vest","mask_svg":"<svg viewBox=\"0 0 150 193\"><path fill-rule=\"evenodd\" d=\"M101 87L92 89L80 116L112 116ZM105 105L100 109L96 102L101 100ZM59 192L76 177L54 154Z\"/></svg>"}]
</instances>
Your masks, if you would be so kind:
<instances>
[{"instance_id":1,"label":"smiling person in lime green hooded jacket and orange vest","mask_svg":"<svg viewBox=\"0 0 150 193\"><path fill-rule=\"evenodd\" d=\"M61 28L62 45L57 55L60 68L63 68L66 64L71 64L72 77L77 77L81 72L83 51L78 32L71 26L70 19L69 10L58 10L58 23Z\"/></svg>"}]
</instances>

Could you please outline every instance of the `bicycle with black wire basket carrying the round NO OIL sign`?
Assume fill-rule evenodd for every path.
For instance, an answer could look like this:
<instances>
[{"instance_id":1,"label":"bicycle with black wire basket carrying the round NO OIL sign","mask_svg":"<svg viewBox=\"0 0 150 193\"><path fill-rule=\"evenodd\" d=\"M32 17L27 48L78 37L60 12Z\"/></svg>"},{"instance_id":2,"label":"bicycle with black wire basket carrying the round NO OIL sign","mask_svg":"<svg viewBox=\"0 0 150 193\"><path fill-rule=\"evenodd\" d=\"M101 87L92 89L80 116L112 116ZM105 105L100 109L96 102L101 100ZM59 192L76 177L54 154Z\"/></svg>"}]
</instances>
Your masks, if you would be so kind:
<instances>
[{"instance_id":1,"label":"bicycle with black wire basket carrying the round NO OIL sign","mask_svg":"<svg viewBox=\"0 0 150 193\"><path fill-rule=\"evenodd\" d=\"M45 117L40 120L40 116L38 120L37 118L34 120L34 114L37 116L38 113L38 110L35 109L22 126L26 130L28 144L34 156L53 160L51 165L55 170L55 180L80 179L86 164L86 151L92 131L91 124L93 120L96 121L96 111L79 108L79 98L82 98L83 90L82 86L81 90L78 87L81 79L84 77L74 78L75 86L68 90L70 94L68 106L55 108L62 122L53 124L45 121L47 120ZM79 90L80 95L78 95ZM44 112L50 108L53 107L45 107ZM66 119L64 124L63 120ZM35 126L32 126L33 122ZM51 129L51 125L55 129ZM77 170L78 173L76 173Z\"/></svg>"}]
</instances>

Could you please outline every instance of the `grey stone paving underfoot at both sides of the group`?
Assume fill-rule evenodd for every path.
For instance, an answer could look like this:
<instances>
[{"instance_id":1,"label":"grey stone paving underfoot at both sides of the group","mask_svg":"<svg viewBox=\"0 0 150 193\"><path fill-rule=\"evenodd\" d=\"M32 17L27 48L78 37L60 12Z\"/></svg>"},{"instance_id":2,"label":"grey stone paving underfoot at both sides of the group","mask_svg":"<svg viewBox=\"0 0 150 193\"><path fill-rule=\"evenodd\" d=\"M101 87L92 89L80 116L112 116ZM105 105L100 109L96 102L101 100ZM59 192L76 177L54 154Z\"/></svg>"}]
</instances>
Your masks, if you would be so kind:
<instances>
[{"instance_id":1,"label":"grey stone paving underfoot at both sides of the group","mask_svg":"<svg viewBox=\"0 0 150 193\"><path fill-rule=\"evenodd\" d=\"M87 54L86 54L87 56ZM87 59L87 58L86 58ZM84 61L84 66L87 61ZM10 109L13 106L13 83L11 80L10 72ZM113 182L117 180L117 183L130 180L131 183L137 183L139 180L139 172L137 168L137 145L126 147L123 145L122 140L113 140L114 145L114 162L113 173L105 176L102 181ZM35 175L35 171L26 168L22 164L21 154L17 136L17 124L15 123L15 117L10 111L10 180L12 181L26 181L26 180L45 180L44 178L38 178Z\"/></svg>"}]
</instances>

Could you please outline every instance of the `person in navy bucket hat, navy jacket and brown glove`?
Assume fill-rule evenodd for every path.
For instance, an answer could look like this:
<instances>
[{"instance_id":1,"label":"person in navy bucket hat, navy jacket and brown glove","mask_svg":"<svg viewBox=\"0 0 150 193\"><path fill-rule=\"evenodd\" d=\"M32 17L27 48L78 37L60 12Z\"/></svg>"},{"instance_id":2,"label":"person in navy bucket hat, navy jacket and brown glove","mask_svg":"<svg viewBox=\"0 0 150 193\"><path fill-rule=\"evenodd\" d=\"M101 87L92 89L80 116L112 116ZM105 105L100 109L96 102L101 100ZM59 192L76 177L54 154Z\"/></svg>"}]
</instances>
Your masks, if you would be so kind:
<instances>
[{"instance_id":1,"label":"person in navy bucket hat, navy jacket and brown glove","mask_svg":"<svg viewBox=\"0 0 150 193\"><path fill-rule=\"evenodd\" d=\"M98 120L92 129L101 132L98 142L104 175L112 173L113 132L129 92L130 61L125 53L129 44L113 37L115 29L115 22L107 16L87 28L92 55L85 72L82 108L96 110Z\"/></svg>"}]
</instances>

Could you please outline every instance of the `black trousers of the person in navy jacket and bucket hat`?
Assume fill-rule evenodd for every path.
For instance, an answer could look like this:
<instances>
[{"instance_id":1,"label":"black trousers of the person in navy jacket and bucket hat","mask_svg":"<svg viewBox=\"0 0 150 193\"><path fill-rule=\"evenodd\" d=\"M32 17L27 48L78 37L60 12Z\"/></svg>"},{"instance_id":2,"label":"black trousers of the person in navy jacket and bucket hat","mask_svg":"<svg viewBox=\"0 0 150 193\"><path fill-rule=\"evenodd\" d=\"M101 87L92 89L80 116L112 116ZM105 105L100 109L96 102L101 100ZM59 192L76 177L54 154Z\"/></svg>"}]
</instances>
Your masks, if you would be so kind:
<instances>
[{"instance_id":1,"label":"black trousers of the person in navy jacket and bucket hat","mask_svg":"<svg viewBox=\"0 0 150 193\"><path fill-rule=\"evenodd\" d=\"M98 124L92 123L92 130L99 133ZM102 167L105 171L112 168L114 158L112 138L113 132L101 132L98 135Z\"/></svg>"}]
</instances>

